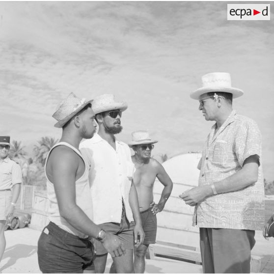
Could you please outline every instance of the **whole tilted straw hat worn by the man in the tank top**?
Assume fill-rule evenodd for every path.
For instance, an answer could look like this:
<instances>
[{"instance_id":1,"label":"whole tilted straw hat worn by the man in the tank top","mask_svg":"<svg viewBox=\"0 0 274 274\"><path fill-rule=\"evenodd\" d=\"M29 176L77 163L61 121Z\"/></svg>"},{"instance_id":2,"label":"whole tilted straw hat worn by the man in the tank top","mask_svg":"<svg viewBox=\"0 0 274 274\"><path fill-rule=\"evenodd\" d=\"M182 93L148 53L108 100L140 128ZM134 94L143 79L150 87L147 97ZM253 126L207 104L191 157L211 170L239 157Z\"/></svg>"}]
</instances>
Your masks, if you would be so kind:
<instances>
[{"instance_id":1,"label":"whole tilted straw hat worn by the man in the tank top","mask_svg":"<svg viewBox=\"0 0 274 274\"><path fill-rule=\"evenodd\" d=\"M75 114L82 110L92 100L85 101L85 98L80 99L73 92L60 102L56 108L53 117L58 122L54 125L55 128L62 128Z\"/></svg>"}]
</instances>

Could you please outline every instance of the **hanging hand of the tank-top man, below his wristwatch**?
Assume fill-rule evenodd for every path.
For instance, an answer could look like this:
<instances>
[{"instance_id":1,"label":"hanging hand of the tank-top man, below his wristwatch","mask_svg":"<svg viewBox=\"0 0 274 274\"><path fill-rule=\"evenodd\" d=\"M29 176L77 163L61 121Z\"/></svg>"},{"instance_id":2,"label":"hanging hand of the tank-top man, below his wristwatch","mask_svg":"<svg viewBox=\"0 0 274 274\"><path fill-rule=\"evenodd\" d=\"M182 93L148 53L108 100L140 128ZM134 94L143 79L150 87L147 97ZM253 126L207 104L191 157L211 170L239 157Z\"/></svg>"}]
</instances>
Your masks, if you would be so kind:
<instances>
[{"instance_id":1,"label":"hanging hand of the tank-top man, below his wristwatch","mask_svg":"<svg viewBox=\"0 0 274 274\"><path fill-rule=\"evenodd\" d=\"M107 232L106 238L101 241L103 247L110 253L111 257L119 257L126 254L123 243L116 235Z\"/></svg>"}]
</instances>

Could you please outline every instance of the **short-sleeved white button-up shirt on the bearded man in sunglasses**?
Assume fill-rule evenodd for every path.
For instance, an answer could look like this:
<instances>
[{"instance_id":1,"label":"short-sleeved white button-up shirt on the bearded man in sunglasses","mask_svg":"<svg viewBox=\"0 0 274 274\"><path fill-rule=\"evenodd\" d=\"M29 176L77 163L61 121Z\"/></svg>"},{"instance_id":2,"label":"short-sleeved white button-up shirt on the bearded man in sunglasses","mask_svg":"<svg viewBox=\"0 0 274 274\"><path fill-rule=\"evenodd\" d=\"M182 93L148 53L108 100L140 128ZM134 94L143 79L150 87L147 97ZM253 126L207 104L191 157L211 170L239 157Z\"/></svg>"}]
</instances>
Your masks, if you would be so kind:
<instances>
[{"instance_id":1,"label":"short-sleeved white button-up shirt on the bearded man in sunglasses","mask_svg":"<svg viewBox=\"0 0 274 274\"><path fill-rule=\"evenodd\" d=\"M134 164L127 144L115 140L116 150L95 134L80 144L80 150L89 165L89 184L93 203L93 221L96 224L121 222L122 200L126 217L133 221L129 204Z\"/></svg>"}]
</instances>

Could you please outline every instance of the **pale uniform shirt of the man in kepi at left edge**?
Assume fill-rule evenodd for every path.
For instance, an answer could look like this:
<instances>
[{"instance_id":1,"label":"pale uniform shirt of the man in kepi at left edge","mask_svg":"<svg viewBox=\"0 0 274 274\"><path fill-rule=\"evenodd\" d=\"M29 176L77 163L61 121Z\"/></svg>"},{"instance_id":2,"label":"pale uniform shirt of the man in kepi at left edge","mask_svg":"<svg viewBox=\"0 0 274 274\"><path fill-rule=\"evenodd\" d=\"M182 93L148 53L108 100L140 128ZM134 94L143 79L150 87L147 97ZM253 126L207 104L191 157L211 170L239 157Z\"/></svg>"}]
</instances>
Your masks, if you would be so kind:
<instances>
[{"instance_id":1,"label":"pale uniform shirt of the man in kepi at left edge","mask_svg":"<svg viewBox=\"0 0 274 274\"><path fill-rule=\"evenodd\" d=\"M0 190L11 189L22 183L22 171L19 164L6 157L0 162Z\"/></svg>"}]
</instances>

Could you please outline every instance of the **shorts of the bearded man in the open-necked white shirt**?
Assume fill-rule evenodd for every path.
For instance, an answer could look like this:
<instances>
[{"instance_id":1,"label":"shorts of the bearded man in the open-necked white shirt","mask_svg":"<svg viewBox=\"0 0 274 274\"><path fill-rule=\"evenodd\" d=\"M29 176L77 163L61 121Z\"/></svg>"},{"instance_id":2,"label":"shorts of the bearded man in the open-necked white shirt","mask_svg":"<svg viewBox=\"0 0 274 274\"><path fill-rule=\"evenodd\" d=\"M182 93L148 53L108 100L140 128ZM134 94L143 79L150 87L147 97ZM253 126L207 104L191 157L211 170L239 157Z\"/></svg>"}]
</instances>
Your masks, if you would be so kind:
<instances>
[{"instance_id":1,"label":"shorts of the bearded man in the open-necked white shirt","mask_svg":"<svg viewBox=\"0 0 274 274\"><path fill-rule=\"evenodd\" d=\"M126 214L125 214L125 209L123 206L123 211L122 211L122 218L121 222L105 222L101 223L98 226L100 228L106 230L109 233L112 233L116 235L119 240L123 243L124 247L126 249L133 249L134 247L134 236L133 236L133 229L135 226L135 222L129 222ZM103 247L103 245L94 239L94 247L95 247L95 252L96 255L102 255L108 253L108 251Z\"/></svg>"}]
</instances>

